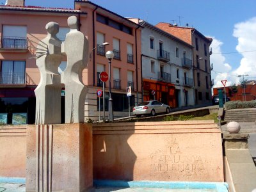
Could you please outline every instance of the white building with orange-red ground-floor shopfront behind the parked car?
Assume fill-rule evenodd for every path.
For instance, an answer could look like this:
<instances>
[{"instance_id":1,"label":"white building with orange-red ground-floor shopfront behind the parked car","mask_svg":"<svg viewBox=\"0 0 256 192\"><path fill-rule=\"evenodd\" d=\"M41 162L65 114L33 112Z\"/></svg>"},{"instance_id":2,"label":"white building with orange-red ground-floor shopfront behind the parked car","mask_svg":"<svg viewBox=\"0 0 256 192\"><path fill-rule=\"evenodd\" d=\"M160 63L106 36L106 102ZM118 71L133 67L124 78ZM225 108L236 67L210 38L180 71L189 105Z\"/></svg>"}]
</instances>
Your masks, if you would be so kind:
<instances>
[{"instance_id":1,"label":"white building with orange-red ground-floor shopfront behind the parked car","mask_svg":"<svg viewBox=\"0 0 256 192\"><path fill-rule=\"evenodd\" d=\"M145 20L138 22L143 26L143 100L160 100L172 108L193 106L193 46ZM152 90L156 95L152 95Z\"/></svg>"}]
</instances>

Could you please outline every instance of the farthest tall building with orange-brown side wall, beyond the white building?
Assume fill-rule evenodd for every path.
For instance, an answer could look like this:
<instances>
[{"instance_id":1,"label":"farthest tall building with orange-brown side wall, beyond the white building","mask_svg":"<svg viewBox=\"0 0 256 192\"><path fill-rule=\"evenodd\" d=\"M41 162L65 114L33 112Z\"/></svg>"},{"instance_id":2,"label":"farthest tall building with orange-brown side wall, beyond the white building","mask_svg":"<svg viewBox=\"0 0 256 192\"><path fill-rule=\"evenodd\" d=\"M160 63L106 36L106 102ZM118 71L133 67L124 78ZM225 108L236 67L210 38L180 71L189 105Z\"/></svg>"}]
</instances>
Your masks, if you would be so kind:
<instances>
[{"instance_id":1,"label":"farthest tall building with orange-brown side wall, beyond the white building","mask_svg":"<svg viewBox=\"0 0 256 192\"><path fill-rule=\"evenodd\" d=\"M195 105L211 104L211 81L210 55L212 38L207 38L195 28L180 27L165 22L159 22L157 28L177 36L184 42L193 45L193 79L195 89Z\"/></svg>"}]
</instances>

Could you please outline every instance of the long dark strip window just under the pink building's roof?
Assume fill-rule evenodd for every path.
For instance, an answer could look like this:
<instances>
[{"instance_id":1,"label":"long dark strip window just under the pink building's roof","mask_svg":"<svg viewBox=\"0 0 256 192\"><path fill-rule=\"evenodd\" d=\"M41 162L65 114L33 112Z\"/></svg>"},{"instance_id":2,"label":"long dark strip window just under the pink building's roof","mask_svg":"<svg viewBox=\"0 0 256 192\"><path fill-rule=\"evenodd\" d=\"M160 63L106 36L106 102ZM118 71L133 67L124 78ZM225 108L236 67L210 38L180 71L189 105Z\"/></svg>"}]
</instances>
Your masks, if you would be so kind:
<instances>
[{"instance_id":1,"label":"long dark strip window just under the pink building's roof","mask_svg":"<svg viewBox=\"0 0 256 192\"><path fill-rule=\"evenodd\" d=\"M132 35L132 28L129 28L128 26L125 26L124 24L122 24L120 22L109 19L108 17L105 17L100 14L97 14L96 19L98 22L100 22L102 24L106 24L106 25L110 26L111 28L115 28L120 31L124 31L125 33Z\"/></svg>"}]
</instances>

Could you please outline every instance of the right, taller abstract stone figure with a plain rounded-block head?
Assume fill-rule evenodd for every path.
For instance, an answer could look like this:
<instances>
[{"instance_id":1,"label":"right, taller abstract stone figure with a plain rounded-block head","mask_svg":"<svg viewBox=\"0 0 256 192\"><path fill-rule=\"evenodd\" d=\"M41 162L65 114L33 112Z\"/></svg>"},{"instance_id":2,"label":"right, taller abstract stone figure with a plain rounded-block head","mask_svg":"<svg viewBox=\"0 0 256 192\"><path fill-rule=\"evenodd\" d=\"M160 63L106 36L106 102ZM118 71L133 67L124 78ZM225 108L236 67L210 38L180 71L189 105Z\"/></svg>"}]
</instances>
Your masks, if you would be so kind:
<instances>
[{"instance_id":1,"label":"right, taller abstract stone figure with a plain rounded-block head","mask_svg":"<svg viewBox=\"0 0 256 192\"><path fill-rule=\"evenodd\" d=\"M87 88L83 84L82 72L87 67L88 40L77 30L77 17L68 17L70 32L63 45L67 55L67 68L61 74L65 84L65 124L84 122L84 100Z\"/></svg>"}]
</instances>

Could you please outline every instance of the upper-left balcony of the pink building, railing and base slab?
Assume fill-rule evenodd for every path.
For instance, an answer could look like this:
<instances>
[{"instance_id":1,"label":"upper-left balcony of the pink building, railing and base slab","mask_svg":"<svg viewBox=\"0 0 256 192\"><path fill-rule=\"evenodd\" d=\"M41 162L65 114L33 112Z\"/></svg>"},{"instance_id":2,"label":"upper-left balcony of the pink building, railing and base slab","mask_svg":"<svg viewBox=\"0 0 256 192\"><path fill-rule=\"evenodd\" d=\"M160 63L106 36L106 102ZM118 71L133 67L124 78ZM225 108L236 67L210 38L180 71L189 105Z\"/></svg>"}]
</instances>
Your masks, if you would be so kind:
<instances>
[{"instance_id":1,"label":"upper-left balcony of the pink building, railing and base slab","mask_svg":"<svg viewBox=\"0 0 256 192\"><path fill-rule=\"evenodd\" d=\"M2 36L0 44L1 52L28 51L28 39L26 37Z\"/></svg>"}]
</instances>

